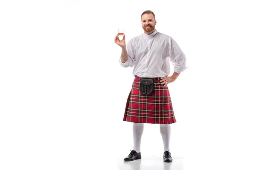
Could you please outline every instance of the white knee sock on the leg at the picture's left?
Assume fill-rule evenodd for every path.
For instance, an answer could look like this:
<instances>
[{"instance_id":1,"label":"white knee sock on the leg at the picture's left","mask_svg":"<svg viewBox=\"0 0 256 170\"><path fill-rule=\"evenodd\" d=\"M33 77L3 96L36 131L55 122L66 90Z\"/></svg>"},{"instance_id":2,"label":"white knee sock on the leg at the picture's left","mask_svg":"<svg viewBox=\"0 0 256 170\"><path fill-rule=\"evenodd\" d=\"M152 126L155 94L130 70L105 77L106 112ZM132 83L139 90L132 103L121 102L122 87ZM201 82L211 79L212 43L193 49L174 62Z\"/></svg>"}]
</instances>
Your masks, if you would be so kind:
<instances>
[{"instance_id":1,"label":"white knee sock on the leg at the picture's left","mask_svg":"<svg viewBox=\"0 0 256 170\"><path fill-rule=\"evenodd\" d=\"M134 123L133 124L133 137L134 137L134 148L136 152L140 152L140 142L141 142L141 137L144 129L144 124L143 123Z\"/></svg>"}]
</instances>

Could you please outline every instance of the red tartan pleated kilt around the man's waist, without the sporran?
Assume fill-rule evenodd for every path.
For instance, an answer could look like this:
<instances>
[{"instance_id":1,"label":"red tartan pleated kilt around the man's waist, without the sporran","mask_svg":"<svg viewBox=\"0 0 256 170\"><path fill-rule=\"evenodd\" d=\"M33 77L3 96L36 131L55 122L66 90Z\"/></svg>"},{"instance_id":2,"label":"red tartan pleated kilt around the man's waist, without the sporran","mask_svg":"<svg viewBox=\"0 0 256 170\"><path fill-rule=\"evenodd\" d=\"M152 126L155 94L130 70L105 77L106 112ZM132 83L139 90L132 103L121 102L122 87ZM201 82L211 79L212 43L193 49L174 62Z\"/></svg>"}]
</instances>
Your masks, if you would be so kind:
<instances>
[{"instance_id":1,"label":"red tartan pleated kilt around the man's waist, without the sporran","mask_svg":"<svg viewBox=\"0 0 256 170\"><path fill-rule=\"evenodd\" d=\"M139 90L140 78L142 77L135 75L123 121L153 124L175 123L168 87L161 85L160 77L156 77L153 78L154 91L149 95L143 95Z\"/></svg>"}]
</instances>

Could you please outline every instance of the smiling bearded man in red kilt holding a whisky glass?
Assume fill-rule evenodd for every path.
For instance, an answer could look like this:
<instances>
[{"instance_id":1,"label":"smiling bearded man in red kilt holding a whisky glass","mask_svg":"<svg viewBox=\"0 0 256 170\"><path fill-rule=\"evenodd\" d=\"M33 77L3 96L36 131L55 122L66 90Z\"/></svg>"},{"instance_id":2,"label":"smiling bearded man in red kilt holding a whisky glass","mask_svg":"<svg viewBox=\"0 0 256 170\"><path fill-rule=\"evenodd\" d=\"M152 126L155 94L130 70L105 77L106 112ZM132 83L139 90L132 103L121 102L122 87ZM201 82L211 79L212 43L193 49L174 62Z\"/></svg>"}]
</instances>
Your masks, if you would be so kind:
<instances>
[{"instance_id":1,"label":"smiling bearded man in red kilt holding a whisky glass","mask_svg":"<svg viewBox=\"0 0 256 170\"><path fill-rule=\"evenodd\" d=\"M122 48L120 64L123 67L134 66L135 77L123 119L133 122L134 148L124 161L141 159L140 142L144 123L152 123L160 124L164 145L163 161L172 162L169 152L170 124L175 123L176 119L167 85L186 70L186 57L172 37L157 32L157 20L152 11L141 14L141 23L144 33L128 41L127 45L125 35L122 40L119 40L118 34L114 39ZM169 60L174 66L174 73L170 77Z\"/></svg>"}]
</instances>

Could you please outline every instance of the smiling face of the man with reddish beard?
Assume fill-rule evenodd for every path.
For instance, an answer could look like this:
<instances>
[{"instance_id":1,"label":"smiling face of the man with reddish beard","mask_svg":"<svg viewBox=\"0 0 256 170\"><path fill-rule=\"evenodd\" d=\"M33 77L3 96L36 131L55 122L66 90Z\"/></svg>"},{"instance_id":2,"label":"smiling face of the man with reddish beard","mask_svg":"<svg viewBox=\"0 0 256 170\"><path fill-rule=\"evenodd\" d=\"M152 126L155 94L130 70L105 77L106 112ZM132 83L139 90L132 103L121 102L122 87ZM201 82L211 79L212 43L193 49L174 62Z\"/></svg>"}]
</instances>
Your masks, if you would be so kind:
<instances>
[{"instance_id":1,"label":"smiling face of the man with reddish beard","mask_svg":"<svg viewBox=\"0 0 256 170\"><path fill-rule=\"evenodd\" d=\"M155 31L155 25L157 21L154 20L153 14L143 14L141 17L141 25L145 33L152 33Z\"/></svg>"}]
</instances>

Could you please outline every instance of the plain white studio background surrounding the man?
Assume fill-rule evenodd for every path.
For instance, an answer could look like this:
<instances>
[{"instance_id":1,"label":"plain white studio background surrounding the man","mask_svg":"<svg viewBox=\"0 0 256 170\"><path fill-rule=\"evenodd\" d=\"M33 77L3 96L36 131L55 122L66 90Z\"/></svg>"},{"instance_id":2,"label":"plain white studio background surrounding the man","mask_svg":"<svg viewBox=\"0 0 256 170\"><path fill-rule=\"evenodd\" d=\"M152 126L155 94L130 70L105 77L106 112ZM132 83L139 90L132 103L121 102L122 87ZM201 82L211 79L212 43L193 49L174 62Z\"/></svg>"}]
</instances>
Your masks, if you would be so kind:
<instances>
[{"instance_id":1,"label":"plain white studio background surrounding the man","mask_svg":"<svg viewBox=\"0 0 256 170\"><path fill-rule=\"evenodd\" d=\"M121 67L113 39L119 27L126 42L142 34L145 10L189 66L168 85L172 154L186 169L253 169L253 0L1 0L1 170L115 169L128 155L133 68ZM162 155L158 125L145 125L141 150Z\"/></svg>"}]
</instances>

